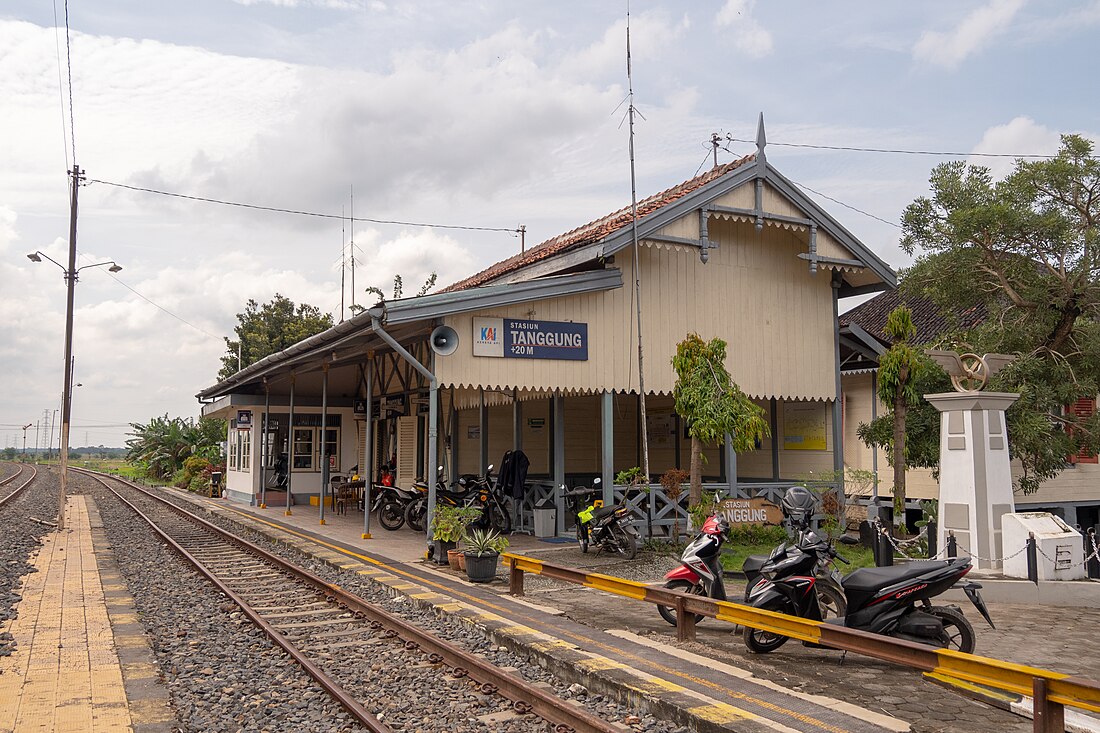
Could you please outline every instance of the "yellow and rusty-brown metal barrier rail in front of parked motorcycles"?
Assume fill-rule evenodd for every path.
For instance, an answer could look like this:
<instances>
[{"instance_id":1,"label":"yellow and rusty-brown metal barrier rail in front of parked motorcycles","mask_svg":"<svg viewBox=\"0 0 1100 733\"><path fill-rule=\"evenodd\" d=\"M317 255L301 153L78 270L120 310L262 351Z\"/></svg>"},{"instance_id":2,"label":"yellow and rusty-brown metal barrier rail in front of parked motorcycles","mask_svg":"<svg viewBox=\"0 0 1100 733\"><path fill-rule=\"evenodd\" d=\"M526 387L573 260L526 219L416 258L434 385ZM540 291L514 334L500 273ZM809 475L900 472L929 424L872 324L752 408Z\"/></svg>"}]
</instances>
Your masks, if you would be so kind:
<instances>
[{"instance_id":1,"label":"yellow and rusty-brown metal barrier rail in front of parked motorcycles","mask_svg":"<svg viewBox=\"0 0 1100 733\"><path fill-rule=\"evenodd\" d=\"M938 649L846 626L754 609L740 603L716 601L614 576L584 572L525 555L505 553L504 558L508 562L508 584L513 595L524 594L524 573L530 572L624 598L669 606L676 610L676 638L681 641L695 637L695 615L698 614L803 642L864 654L997 690L1031 696L1035 700L1036 733L1062 733L1063 705L1100 712L1100 683L1092 680L953 649Z\"/></svg>"}]
</instances>

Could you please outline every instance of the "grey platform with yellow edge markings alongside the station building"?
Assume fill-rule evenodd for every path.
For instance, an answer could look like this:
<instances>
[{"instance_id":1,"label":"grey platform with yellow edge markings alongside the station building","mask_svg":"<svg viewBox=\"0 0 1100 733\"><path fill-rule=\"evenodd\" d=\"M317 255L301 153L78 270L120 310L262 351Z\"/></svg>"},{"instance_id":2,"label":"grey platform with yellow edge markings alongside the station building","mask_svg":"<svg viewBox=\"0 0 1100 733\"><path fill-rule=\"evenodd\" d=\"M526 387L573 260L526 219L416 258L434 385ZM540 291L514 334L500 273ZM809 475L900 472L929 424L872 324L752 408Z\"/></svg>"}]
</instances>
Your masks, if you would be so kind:
<instances>
[{"instance_id":1,"label":"grey platform with yellow edge markings alongside the station building","mask_svg":"<svg viewBox=\"0 0 1100 733\"><path fill-rule=\"evenodd\" d=\"M170 490L206 511L256 529L332 567L381 583L394 595L484 630L501 646L521 650L590 692L626 701L642 713L695 731L908 731L908 722L823 694L792 690L730 664L676 649L651 637L603 631L573 621L548 604L514 599L503 582L470 583L424 562L422 534L372 533L362 538L362 514L331 516L318 507L242 506ZM299 511L300 510L300 511ZM514 535L516 551L563 547ZM596 591L591 591L598 595ZM645 611L657 616L656 609ZM663 623L663 622L662 622Z\"/></svg>"}]
</instances>

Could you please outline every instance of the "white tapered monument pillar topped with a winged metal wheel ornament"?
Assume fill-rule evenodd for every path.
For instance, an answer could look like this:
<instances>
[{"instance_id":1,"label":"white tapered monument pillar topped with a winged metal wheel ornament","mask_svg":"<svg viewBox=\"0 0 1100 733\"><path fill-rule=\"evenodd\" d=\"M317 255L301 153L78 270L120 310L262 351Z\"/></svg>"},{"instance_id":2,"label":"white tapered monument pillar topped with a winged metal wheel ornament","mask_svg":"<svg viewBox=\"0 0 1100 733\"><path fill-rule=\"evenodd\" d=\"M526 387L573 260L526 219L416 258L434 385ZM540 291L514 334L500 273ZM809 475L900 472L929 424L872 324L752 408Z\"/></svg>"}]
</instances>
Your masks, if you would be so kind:
<instances>
[{"instance_id":1,"label":"white tapered monument pillar topped with a winged metal wheel ornament","mask_svg":"<svg viewBox=\"0 0 1100 733\"><path fill-rule=\"evenodd\" d=\"M1015 511L1004 411L1020 395L980 390L1013 357L927 353L956 389L924 395L941 413L938 546L947 547L954 532L960 555L971 556L978 568L999 569L1003 516Z\"/></svg>"}]
</instances>

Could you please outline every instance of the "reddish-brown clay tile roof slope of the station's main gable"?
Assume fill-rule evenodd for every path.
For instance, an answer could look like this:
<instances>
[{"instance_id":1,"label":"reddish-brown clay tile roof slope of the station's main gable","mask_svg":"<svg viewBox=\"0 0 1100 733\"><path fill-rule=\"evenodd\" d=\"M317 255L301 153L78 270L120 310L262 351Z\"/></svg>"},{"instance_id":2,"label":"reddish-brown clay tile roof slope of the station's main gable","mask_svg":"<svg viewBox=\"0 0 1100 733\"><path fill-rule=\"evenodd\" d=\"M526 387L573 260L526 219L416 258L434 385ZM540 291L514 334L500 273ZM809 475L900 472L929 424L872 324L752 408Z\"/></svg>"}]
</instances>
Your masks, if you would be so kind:
<instances>
[{"instance_id":1,"label":"reddish-brown clay tile roof slope of the station's main gable","mask_svg":"<svg viewBox=\"0 0 1100 733\"><path fill-rule=\"evenodd\" d=\"M638 201L638 219L640 220L642 217L652 214L653 211L657 211L658 209L668 206L680 198L683 198L693 190L702 188L712 180L716 180L727 173L736 171L746 163L750 163L755 160L756 155L746 155L740 160L711 168L703 175L695 176L691 180L685 180L684 183L673 186L672 188L662 190L660 194L656 194L645 200ZM608 214L602 219L596 219L595 221L586 223L583 227L568 231L564 234L559 234L552 239L548 239L526 252L497 262L496 264L481 271L476 275L472 275L461 282L454 283L440 292L450 293L454 291L464 291L469 287L477 287L479 285L485 285L497 277L526 267L529 264L540 262L548 258L552 258L556 254L568 252L584 244L600 241L604 237L618 231L629 223L630 207L626 206L614 214Z\"/></svg>"}]
</instances>

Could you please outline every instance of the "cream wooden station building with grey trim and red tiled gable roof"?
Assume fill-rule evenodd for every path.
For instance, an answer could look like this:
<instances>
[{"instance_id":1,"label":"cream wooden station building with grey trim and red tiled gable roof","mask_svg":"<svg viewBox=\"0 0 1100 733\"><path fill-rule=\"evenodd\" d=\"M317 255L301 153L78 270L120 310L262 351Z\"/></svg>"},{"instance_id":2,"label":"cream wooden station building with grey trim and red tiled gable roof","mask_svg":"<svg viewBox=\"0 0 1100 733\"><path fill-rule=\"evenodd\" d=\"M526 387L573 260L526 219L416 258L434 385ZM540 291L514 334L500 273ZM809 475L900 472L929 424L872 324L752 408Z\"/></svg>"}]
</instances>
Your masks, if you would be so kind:
<instances>
[{"instance_id":1,"label":"cream wooden station building with grey trim and red tiled gable roof","mask_svg":"<svg viewBox=\"0 0 1100 733\"><path fill-rule=\"evenodd\" d=\"M616 472L642 462L636 277L656 484L645 521L683 526L685 497L656 482L690 461L671 358L691 332L728 343L727 369L771 423L751 452L708 447L705 489L774 497L835 480L851 348L838 302L895 274L768 163L762 124L754 155L639 201L636 232L631 221L626 207L441 292L381 303L202 390L202 414L229 420L228 496L280 505L280 456L299 504L353 467L433 484L439 467L444 480L483 473L522 450L525 516L550 502L563 532L556 486L598 477L612 499Z\"/></svg>"}]
</instances>

